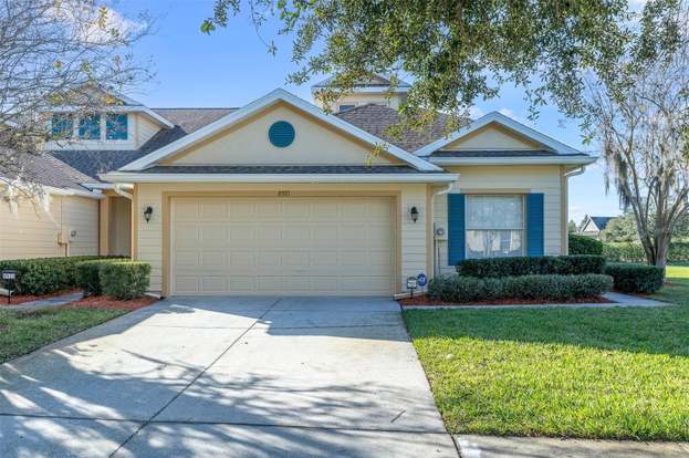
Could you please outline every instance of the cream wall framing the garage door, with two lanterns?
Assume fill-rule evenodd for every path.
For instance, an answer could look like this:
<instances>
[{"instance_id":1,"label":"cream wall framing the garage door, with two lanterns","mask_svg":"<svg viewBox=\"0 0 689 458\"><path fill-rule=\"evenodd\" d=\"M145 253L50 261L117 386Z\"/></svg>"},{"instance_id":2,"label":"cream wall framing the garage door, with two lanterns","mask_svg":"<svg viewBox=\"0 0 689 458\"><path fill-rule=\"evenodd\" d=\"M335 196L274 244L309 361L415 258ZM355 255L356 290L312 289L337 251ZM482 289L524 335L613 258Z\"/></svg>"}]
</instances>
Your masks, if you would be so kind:
<instances>
[{"instance_id":1,"label":"cream wall framing the garage door, with two lanterns","mask_svg":"<svg viewBox=\"0 0 689 458\"><path fill-rule=\"evenodd\" d=\"M389 195L397 198L397 216L395 233L390 237L398 239L398 248L396 249L395 270L399 277L399 291L404 290L405 279L409 275L417 275L419 272L426 272L428 266L427 258L427 229L430 225L425 222L427 217L427 186L425 184L411 185L358 185L358 184L337 184L337 185L307 185L307 184L139 184L135 189L135 199L133 205L135 233L133 241L135 243L135 258L149 262L153 267L150 290L155 292L164 291L164 274L166 274L166 266L164 266L164 251L169 247L165 247L164 242L164 222L165 216L165 197L170 194L185 196L278 196L279 191L290 191L291 196L377 196ZM290 197L285 197L290 198ZM153 218L146 222L143 217L146 207L153 207ZM413 222L409 217L409 209L416 206L419 210L419 220Z\"/></svg>"}]
</instances>

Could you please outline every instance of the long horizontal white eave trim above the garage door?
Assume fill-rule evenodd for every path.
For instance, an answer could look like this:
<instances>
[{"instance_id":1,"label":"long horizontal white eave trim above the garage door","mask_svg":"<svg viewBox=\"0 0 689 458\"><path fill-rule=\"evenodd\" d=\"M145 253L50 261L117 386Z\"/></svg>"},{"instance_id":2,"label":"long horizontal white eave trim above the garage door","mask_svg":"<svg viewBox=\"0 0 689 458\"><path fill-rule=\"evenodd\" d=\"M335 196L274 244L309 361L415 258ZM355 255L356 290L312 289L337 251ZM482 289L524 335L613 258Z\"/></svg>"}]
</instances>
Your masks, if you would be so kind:
<instances>
[{"instance_id":1,"label":"long horizontal white eave trim above the garage door","mask_svg":"<svg viewBox=\"0 0 689 458\"><path fill-rule=\"evenodd\" d=\"M457 174L136 174L100 175L113 183L450 183Z\"/></svg>"}]
</instances>

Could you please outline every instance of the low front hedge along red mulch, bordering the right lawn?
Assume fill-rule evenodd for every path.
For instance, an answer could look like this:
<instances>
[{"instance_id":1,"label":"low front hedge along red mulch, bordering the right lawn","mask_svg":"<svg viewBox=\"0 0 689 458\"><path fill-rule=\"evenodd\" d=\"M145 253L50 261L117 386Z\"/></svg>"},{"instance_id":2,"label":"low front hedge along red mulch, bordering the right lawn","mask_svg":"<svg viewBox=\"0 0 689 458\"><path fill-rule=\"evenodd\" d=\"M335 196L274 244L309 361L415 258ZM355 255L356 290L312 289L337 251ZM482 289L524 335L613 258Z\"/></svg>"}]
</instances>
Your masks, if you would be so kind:
<instances>
[{"instance_id":1,"label":"low front hedge along red mulch, bordering the right lawn","mask_svg":"<svg viewBox=\"0 0 689 458\"><path fill-rule=\"evenodd\" d=\"M598 296L612 288L613 279L601 273L501 279L452 275L432 279L428 284L428 295L457 303L502 299L573 301Z\"/></svg>"}]
</instances>

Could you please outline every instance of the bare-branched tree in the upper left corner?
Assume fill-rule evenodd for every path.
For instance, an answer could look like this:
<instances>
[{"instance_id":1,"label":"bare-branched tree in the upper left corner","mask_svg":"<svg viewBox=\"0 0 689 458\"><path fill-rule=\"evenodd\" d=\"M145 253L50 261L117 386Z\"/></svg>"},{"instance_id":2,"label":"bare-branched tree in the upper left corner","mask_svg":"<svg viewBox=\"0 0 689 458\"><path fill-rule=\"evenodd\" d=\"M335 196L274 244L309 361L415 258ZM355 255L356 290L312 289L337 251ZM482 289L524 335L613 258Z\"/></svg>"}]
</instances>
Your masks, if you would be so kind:
<instances>
[{"instance_id":1,"label":"bare-branched tree in the upper left corner","mask_svg":"<svg viewBox=\"0 0 689 458\"><path fill-rule=\"evenodd\" d=\"M25 165L49 139L51 111L102 111L148 79L131 48L149 30L93 0L0 1L0 179L35 178Z\"/></svg>"}]
</instances>

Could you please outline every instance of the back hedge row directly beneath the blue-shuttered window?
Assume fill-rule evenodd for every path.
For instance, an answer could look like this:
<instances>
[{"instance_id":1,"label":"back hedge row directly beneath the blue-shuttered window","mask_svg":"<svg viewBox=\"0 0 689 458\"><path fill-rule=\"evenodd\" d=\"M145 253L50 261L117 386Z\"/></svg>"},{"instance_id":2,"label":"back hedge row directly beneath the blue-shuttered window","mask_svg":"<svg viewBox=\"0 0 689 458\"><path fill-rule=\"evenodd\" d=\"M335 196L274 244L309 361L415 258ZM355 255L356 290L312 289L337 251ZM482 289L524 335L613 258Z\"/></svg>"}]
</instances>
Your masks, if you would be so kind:
<instances>
[{"instance_id":1,"label":"back hedge row directly beneath the blue-shuttered window","mask_svg":"<svg viewBox=\"0 0 689 458\"><path fill-rule=\"evenodd\" d=\"M461 277L502 278L519 275L576 275L603 273L605 258L602 256L543 256L536 258L467 259L457 264Z\"/></svg>"}]
</instances>

